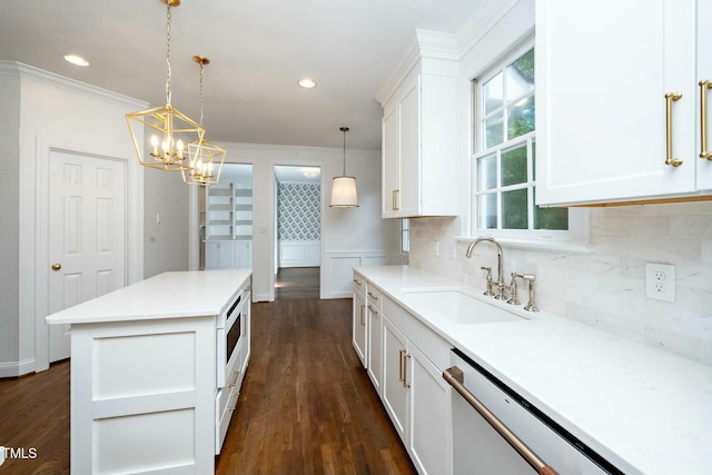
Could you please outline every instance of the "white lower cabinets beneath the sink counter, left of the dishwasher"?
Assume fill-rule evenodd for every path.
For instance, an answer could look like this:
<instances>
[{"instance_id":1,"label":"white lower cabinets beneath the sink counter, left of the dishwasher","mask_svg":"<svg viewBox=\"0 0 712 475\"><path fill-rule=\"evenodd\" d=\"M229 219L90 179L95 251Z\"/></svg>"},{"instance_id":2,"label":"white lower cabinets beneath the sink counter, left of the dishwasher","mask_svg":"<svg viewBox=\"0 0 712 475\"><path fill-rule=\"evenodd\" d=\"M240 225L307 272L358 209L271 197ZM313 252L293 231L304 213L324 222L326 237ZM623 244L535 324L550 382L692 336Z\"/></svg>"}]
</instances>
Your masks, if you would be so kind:
<instances>
[{"instance_id":1,"label":"white lower cabinets beneath the sink counter, left of the dishwasher","mask_svg":"<svg viewBox=\"0 0 712 475\"><path fill-rule=\"evenodd\" d=\"M370 296L373 286L364 281ZM362 329L356 324L363 295L354 291L354 340L365 330L368 376L418 473L452 474L452 389L442 377L451 345L383 293L378 296L378 307L366 297Z\"/></svg>"}]
</instances>

